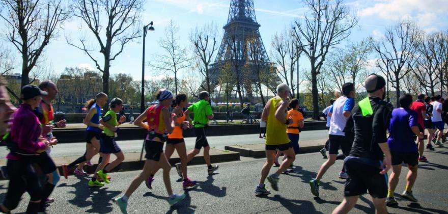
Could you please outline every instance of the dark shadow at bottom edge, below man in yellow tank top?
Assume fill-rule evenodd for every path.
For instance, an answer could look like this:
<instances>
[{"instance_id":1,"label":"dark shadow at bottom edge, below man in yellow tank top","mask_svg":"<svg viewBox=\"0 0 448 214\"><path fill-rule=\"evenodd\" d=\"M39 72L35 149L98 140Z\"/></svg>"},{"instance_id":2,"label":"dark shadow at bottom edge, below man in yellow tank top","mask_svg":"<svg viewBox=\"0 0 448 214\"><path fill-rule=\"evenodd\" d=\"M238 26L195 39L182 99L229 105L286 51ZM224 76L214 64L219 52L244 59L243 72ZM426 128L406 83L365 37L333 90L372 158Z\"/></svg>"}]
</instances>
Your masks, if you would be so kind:
<instances>
[{"instance_id":1,"label":"dark shadow at bottom edge, below man in yellow tank top","mask_svg":"<svg viewBox=\"0 0 448 214\"><path fill-rule=\"evenodd\" d=\"M276 201L282 204L285 208L287 208L291 213L322 213L316 210L313 203L311 201L304 200L294 200L294 199L286 199L280 195L275 194L273 197L261 197L266 198L271 201Z\"/></svg>"}]
</instances>

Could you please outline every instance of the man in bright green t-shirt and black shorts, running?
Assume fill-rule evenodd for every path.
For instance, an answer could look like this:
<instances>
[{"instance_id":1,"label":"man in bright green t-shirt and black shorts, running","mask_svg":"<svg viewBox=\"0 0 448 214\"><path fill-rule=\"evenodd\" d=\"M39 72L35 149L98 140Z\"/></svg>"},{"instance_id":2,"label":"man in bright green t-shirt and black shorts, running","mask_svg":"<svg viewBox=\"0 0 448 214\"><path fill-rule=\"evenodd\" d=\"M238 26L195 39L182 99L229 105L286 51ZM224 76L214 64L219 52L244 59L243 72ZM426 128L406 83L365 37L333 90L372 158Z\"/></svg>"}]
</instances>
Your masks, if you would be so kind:
<instances>
[{"instance_id":1,"label":"man in bright green t-shirt and black shorts, running","mask_svg":"<svg viewBox=\"0 0 448 214\"><path fill-rule=\"evenodd\" d=\"M190 124L194 125L194 135L196 135L196 143L194 145L194 149L191 150L187 155L187 163L193 159L193 157L201 151L201 148L204 147L204 159L207 164L208 174L213 174L214 171L218 169L218 166L212 166L210 163L210 146L207 142L207 137L205 136L205 127L207 127L207 123L209 120L213 119L212 107L210 106L210 95L206 91L202 91L199 93L199 101L190 105L185 111L185 115ZM191 121L189 114L194 114L194 120ZM191 125L190 125L191 126Z\"/></svg>"}]
</instances>

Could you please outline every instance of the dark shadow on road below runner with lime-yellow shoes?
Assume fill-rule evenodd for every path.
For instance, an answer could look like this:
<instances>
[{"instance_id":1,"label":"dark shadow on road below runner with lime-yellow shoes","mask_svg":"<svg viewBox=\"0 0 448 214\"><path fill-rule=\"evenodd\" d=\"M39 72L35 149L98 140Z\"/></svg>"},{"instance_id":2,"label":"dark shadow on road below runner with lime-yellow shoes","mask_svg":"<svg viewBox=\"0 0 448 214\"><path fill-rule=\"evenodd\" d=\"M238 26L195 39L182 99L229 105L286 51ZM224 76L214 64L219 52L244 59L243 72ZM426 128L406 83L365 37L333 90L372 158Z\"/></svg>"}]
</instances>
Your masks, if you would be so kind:
<instances>
[{"instance_id":1,"label":"dark shadow on road below runner with lime-yellow shoes","mask_svg":"<svg viewBox=\"0 0 448 214\"><path fill-rule=\"evenodd\" d=\"M69 191L68 194L74 194L75 197L73 199L68 200L69 203L80 207L91 207L86 210L86 212L95 212L95 213L106 213L111 212L113 210L112 207L112 199L118 196L120 191L108 191L107 187L102 188L89 188L87 183L89 182L89 177L82 177L78 182L67 185L67 183L61 183L60 186L68 186L73 187L74 191ZM91 201L87 199L92 197Z\"/></svg>"}]
</instances>

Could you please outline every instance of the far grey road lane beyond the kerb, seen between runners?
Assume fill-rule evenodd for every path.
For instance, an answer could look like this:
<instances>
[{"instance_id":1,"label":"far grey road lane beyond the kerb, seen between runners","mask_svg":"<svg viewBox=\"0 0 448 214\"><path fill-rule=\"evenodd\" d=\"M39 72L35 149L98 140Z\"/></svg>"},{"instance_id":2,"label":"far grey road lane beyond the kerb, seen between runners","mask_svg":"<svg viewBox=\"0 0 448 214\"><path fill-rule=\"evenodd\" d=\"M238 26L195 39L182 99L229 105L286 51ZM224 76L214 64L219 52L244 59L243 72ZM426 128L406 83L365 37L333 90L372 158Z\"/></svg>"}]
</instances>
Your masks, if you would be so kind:
<instances>
[{"instance_id":1,"label":"far grey road lane beyond the kerb, seen between runners","mask_svg":"<svg viewBox=\"0 0 448 214\"><path fill-rule=\"evenodd\" d=\"M300 140L327 139L328 130L310 130L303 131L300 134ZM250 135L233 135L233 136L211 136L207 137L211 147L224 149L225 146L245 145L264 143L264 139L260 139L258 134ZM194 148L195 138L185 138L187 149ZM123 152L139 152L142 150L142 140L117 141ZM73 156L82 155L86 151L86 143L61 143L54 146L51 150L51 156ZM0 156L5 157L8 154L6 147L0 147Z\"/></svg>"}]
</instances>

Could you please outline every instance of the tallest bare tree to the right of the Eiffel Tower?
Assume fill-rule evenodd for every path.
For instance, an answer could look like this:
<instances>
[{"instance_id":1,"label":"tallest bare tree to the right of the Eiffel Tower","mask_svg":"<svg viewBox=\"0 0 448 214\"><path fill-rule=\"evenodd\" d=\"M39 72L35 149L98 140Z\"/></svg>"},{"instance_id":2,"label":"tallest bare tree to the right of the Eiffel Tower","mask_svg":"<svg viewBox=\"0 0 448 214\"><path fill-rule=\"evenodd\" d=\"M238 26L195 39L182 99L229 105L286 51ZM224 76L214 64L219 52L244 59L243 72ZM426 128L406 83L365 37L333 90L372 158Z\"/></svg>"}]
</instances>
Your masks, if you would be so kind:
<instances>
[{"instance_id":1,"label":"tallest bare tree to the right of the Eiffel Tower","mask_svg":"<svg viewBox=\"0 0 448 214\"><path fill-rule=\"evenodd\" d=\"M311 63L313 118L319 120L317 76L330 48L346 39L358 20L355 14L350 14L349 8L342 0L303 0L303 2L309 8L309 12L305 14L303 22L295 21L294 36L299 46L311 44L313 47L302 50Z\"/></svg>"}]
</instances>

